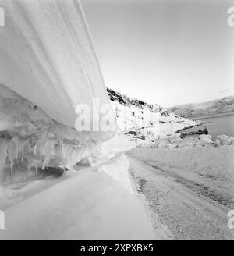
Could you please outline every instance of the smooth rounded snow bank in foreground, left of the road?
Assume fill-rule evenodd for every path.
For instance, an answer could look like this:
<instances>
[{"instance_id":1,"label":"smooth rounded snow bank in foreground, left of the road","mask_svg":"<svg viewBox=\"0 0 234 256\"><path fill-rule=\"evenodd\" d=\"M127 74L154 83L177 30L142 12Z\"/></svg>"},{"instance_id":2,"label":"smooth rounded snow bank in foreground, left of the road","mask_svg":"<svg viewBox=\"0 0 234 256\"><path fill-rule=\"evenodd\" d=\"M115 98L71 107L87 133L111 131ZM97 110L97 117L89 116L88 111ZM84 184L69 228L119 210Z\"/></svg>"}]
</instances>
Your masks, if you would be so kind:
<instances>
[{"instance_id":1,"label":"smooth rounded snow bank in foreground, left of the road","mask_svg":"<svg viewBox=\"0 0 234 256\"><path fill-rule=\"evenodd\" d=\"M156 238L138 198L105 172L88 170L5 209L0 230L0 240Z\"/></svg>"}]
</instances>

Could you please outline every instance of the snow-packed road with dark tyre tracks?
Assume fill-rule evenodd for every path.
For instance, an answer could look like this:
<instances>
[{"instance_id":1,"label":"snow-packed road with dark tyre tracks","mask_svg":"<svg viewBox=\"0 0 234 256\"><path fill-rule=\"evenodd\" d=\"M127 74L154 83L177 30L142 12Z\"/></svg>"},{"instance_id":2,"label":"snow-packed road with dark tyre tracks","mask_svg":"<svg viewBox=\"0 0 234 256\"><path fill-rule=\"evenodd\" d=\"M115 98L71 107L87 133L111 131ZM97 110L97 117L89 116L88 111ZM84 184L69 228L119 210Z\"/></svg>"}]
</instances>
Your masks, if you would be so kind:
<instances>
[{"instance_id":1,"label":"snow-packed road with dark tyre tracks","mask_svg":"<svg viewBox=\"0 0 234 256\"><path fill-rule=\"evenodd\" d=\"M233 240L227 214L234 201L198 181L196 174L174 172L128 156L129 171L144 194L151 212L176 240ZM197 175L198 176L198 175ZM157 228L157 226L154 228Z\"/></svg>"}]
</instances>

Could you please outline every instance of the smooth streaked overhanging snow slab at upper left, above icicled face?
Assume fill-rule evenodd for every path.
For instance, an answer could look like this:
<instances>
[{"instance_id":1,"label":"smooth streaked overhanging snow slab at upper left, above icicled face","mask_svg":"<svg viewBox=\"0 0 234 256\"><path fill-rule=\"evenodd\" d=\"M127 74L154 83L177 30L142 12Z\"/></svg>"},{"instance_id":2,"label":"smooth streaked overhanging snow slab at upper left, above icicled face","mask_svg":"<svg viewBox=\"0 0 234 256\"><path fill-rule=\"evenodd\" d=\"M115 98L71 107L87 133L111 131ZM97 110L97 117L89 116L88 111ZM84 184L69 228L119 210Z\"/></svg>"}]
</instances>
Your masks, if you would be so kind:
<instances>
[{"instance_id":1,"label":"smooth streaked overhanging snow slab at upper left, above icicled face","mask_svg":"<svg viewBox=\"0 0 234 256\"><path fill-rule=\"evenodd\" d=\"M97 109L93 98L109 103L80 0L0 0L0 6L1 84L71 127L77 105ZM93 136L107 140L112 133Z\"/></svg>"}]
</instances>

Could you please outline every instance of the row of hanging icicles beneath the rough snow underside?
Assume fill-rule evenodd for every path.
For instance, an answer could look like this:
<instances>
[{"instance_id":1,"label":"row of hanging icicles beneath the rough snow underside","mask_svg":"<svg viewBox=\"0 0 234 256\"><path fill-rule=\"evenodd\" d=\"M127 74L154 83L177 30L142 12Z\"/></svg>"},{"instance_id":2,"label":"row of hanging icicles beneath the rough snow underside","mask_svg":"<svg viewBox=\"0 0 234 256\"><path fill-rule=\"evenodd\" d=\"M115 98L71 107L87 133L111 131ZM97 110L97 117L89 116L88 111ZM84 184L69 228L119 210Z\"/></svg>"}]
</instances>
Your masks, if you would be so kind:
<instances>
[{"instance_id":1,"label":"row of hanging icicles beneath the rough snow underside","mask_svg":"<svg viewBox=\"0 0 234 256\"><path fill-rule=\"evenodd\" d=\"M95 155L99 155L101 145L90 142L87 145L64 143L62 140L38 140L32 144L32 140L24 140L13 137L11 140L0 139L0 178L3 182L4 171L10 167L10 174L17 166L23 164L25 168L46 169L48 166L58 166L63 169L71 169L83 158L94 162Z\"/></svg>"}]
</instances>

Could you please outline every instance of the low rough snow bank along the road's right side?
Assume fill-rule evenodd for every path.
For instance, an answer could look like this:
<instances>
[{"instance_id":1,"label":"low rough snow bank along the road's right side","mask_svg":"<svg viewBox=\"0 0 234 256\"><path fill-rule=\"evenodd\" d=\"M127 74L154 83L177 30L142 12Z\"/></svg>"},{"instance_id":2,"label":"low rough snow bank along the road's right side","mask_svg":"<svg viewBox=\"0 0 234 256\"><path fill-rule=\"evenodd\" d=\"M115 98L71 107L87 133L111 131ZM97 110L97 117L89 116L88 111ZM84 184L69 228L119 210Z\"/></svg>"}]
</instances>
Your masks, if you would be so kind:
<instances>
[{"instance_id":1,"label":"low rough snow bank along the road's right side","mask_svg":"<svg viewBox=\"0 0 234 256\"><path fill-rule=\"evenodd\" d=\"M168 148L166 144L155 145L155 148L153 145L136 148L131 151L131 155L161 169L196 172L201 176L212 176L233 184L233 146L217 148L209 144L190 143L176 143L174 148Z\"/></svg>"}]
</instances>

